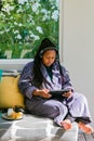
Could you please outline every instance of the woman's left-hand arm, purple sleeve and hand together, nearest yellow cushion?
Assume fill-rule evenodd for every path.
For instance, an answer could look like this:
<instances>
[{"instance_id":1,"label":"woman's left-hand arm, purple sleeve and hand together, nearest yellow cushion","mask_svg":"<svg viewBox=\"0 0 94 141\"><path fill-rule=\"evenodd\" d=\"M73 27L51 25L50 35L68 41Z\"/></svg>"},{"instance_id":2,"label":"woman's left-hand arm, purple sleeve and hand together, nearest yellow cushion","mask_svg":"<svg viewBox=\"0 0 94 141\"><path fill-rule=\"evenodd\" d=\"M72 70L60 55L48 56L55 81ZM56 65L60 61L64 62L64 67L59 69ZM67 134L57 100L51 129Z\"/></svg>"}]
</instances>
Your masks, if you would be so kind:
<instances>
[{"instance_id":1,"label":"woman's left-hand arm, purple sleeve and hand together, nearest yellow cushion","mask_svg":"<svg viewBox=\"0 0 94 141\"><path fill-rule=\"evenodd\" d=\"M18 80L18 88L27 99L31 99L33 95L49 99L51 94L48 89L40 90L32 85L32 66L33 63L28 63L24 67Z\"/></svg>"}]
</instances>

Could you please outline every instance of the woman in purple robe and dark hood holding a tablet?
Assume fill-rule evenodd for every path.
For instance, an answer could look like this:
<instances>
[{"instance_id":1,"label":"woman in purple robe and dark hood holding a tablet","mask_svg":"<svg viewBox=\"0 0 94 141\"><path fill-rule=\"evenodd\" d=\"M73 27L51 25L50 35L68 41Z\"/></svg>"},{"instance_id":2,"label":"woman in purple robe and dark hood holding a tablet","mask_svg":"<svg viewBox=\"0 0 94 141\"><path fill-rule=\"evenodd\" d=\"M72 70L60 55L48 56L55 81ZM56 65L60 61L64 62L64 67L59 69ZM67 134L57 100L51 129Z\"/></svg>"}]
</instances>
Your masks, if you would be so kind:
<instances>
[{"instance_id":1,"label":"woman in purple robe and dark hood holding a tablet","mask_svg":"<svg viewBox=\"0 0 94 141\"><path fill-rule=\"evenodd\" d=\"M92 133L91 115L84 95L75 92L69 74L59 64L58 51L48 38L41 41L35 60L24 67L18 88L26 98L26 107L31 114L54 119L65 130L77 121L79 128ZM50 90L62 90L62 97L52 97Z\"/></svg>"}]
</instances>

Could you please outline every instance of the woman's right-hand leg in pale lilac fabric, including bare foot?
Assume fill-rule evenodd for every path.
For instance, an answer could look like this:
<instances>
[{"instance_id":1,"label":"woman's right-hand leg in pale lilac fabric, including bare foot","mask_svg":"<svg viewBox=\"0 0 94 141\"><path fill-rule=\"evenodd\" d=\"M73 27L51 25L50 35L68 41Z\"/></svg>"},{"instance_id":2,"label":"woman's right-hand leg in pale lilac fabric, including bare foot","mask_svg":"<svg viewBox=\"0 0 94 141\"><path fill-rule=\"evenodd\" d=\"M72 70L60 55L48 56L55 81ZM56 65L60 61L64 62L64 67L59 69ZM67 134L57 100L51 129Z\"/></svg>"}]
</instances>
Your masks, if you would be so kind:
<instances>
[{"instance_id":1,"label":"woman's right-hand leg in pale lilac fabric, including bare foot","mask_svg":"<svg viewBox=\"0 0 94 141\"><path fill-rule=\"evenodd\" d=\"M86 133L92 133L93 128L88 124L92 121L88 101L84 95L75 93L73 101L69 105L69 112L72 117L76 117L76 121L80 129Z\"/></svg>"}]
</instances>

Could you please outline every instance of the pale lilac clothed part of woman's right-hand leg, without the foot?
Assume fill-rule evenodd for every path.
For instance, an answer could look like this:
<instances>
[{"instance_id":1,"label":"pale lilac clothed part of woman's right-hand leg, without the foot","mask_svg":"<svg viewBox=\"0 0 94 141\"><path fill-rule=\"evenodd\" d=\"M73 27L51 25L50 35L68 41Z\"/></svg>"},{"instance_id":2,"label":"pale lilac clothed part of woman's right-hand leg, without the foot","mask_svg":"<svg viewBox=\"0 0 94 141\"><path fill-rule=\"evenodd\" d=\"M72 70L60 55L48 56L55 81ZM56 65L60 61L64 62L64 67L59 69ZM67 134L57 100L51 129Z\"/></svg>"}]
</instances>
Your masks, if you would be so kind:
<instances>
[{"instance_id":1,"label":"pale lilac clothed part of woman's right-hand leg, without the foot","mask_svg":"<svg viewBox=\"0 0 94 141\"><path fill-rule=\"evenodd\" d=\"M72 117L83 117L86 124L92 121L88 101L83 94L73 93L73 100L68 103L68 108Z\"/></svg>"}]
</instances>

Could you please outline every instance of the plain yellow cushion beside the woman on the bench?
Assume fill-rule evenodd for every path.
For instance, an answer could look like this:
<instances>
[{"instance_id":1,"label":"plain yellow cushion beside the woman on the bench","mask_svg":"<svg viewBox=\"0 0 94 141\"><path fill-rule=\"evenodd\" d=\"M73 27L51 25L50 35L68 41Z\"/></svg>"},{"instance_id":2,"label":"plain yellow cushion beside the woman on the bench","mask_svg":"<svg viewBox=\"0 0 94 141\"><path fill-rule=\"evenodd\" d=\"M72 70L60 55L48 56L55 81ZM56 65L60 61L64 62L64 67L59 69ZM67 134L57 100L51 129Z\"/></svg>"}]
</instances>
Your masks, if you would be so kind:
<instances>
[{"instance_id":1,"label":"plain yellow cushion beside the woman on the bench","mask_svg":"<svg viewBox=\"0 0 94 141\"><path fill-rule=\"evenodd\" d=\"M15 105L25 107L24 95L17 88L19 76L3 76L0 81L0 108L9 108Z\"/></svg>"}]
</instances>

